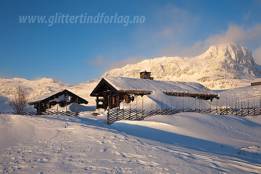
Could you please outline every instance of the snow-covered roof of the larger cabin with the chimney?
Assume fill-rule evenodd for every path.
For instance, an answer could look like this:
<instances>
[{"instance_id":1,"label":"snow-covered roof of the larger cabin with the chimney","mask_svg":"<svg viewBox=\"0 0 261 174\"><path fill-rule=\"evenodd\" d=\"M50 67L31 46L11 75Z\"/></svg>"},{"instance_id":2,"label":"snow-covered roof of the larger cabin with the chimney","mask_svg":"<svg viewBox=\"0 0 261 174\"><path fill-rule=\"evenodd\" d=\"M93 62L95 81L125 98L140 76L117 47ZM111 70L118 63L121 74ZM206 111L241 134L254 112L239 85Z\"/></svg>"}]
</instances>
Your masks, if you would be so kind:
<instances>
[{"instance_id":1,"label":"snow-covered roof of the larger cabin with the chimney","mask_svg":"<svg viewBox=\"0 0 261 174\"><path fill-rule=\"evenodd\" d=\"M186 94L206 94L218 95L216 92L195 82L171 82L150 79L134 79L127 77L106 77L101 82L107 82L117 91L152 91L152 92L168 92L168 93L186 93ZM99 84L100 84L99 83ZM97 85L97 87L99 86ZM93 96L98 88L95 88L91 96ZM95 91L96 90L96 91Z\"/></svg>"}]
</instances>

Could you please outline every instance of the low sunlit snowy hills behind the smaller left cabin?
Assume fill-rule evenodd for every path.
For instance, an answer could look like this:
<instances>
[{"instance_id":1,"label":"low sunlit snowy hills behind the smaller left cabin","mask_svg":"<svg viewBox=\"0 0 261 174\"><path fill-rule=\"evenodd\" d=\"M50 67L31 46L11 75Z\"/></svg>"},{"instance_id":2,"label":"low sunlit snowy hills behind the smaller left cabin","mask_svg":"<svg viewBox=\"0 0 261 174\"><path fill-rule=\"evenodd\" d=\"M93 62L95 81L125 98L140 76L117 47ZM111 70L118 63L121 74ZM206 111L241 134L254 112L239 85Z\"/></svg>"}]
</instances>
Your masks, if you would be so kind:
<instances>
[{"instance_id":1,"label":"low sunlit snowy hills behind the smaller left cabin","mask_svg":"<svg viewBox=\"0 0 261 174\"><path fill-rule=\"evenodd\" d=\"M0 78L0 112L9 112L9 94L12 99L15 94L16 87L19 85L28 91L29 100L32 99L32 101L39 99L46 94L67 89L89 101L88 106L96 106L95 99L90 97L90 93L97 84L98 81L92 81L92 83L88 81L72 86L49 78L43 78L40 80Z\"/></svg>"}]
</instances>

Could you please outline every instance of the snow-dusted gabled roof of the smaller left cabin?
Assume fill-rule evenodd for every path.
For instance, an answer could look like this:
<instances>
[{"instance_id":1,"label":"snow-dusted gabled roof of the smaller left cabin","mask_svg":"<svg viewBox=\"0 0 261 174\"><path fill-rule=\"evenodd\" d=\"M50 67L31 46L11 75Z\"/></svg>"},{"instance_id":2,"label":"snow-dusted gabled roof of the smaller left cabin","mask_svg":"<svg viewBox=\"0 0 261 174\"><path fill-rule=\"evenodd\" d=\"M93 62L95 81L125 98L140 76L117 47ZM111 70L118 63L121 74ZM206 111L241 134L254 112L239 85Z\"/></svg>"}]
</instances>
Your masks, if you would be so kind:
<instances>
[{"instance_id":1,"label":"snow-dusted gabled roof of the smaller left cabin","mask_svg":"<svg viewBox=\"0 0 261 174\"><path fill-rule=\"evenodd\" d=\"M38 99L36 99L36 101L34 102L29 102L28 104L29 105L33 105L35 103L39 103L39 102L42 102L42 103L45 103L45 102L49 102L49 100L53 100L55 98L58 98L59 96L61 95L69 95L72 97L72 100L76 100L76 98L78 98L78 104L81 104L81 103L84 103L84 104L88 104L88 101L79 97L78 95L64 89L64 90L60 90L60 91L54 91L54 92L51 92L51 93L48 93L48 94L45 94L41 97L39 97Z\"/></svg>"}]
</instances>

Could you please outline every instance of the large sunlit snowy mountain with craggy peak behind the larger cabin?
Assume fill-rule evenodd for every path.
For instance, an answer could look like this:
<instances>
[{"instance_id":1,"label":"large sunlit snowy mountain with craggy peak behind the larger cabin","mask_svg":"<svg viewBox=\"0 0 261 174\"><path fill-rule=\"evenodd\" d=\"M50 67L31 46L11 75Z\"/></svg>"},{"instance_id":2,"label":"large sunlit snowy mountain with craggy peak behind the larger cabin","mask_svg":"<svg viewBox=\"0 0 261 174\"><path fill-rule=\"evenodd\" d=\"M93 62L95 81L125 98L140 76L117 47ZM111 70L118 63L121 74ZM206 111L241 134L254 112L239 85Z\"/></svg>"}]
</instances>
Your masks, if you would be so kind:
<instances>
[{"instance_id":1,"label":"large sunlit snowy mountain with craggy peak behind the larger cabin","mask_svg":"<svg viewBox=\"0 0 261 174\"><path fill-rule=\"evenodd\" d=\"M112 69L102 77L139 78L147 70L155 80L197 82L210 89L230 89L248 86L252 79L261 77L251 51L235 42L211 46L197 57L161 57Z\"/></svg>"}]
</instances>

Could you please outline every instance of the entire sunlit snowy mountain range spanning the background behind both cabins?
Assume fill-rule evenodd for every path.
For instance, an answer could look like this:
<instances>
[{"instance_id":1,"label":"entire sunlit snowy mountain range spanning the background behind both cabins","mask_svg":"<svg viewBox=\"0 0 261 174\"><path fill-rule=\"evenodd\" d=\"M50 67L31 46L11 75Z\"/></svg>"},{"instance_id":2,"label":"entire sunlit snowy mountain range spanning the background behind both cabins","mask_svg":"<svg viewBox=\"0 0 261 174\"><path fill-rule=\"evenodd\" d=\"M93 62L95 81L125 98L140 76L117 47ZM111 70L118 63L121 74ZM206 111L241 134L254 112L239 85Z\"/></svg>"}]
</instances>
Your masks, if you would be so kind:
<instances>
[{"instance_id":1,"label":"entire sunlit snowy mountain range spanning the background behind both cabins","mask_svg":"<svg viewBox=\"0 0 261 174\"><path fill-rule=\"evenodd\" d=\"M0 110L9 110L9 94L15 87L27 89L30 99L37 99L47 93L67 89L95 106L90 93L103 77L139 78L139 72L152 72L155 80L197 82L210 89L231 89L250 86L249 82L261 77L261 66L255 64L251 51L234 42L211 46L197 57L162 57L128 64L123 68L112 69L99 79L71 86L53 79L27 80L21 78L0 79Z\"/></svg>"}]
</instances>

